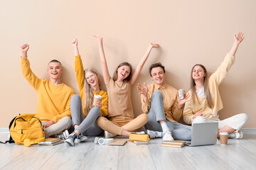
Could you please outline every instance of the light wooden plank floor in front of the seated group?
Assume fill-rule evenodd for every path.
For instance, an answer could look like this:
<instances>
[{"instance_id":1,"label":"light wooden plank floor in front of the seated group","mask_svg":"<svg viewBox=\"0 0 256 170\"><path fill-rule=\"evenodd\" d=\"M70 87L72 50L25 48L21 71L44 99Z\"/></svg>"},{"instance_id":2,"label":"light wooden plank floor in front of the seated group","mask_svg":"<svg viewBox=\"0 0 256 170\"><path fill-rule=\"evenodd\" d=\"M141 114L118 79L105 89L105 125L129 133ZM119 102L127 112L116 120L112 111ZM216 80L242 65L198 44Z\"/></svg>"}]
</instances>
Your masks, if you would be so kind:
<instances>
[{"instance_id":1,"label":"light wooden plank floor in front of the seated group","mask_svg":"<svg viewBox=\"0 0 256 170\"><path fill-rule=\"evenodd\" d=\"M0 133L0 140L7 138ZM256 169L256 133L227 146L169 148L149 145L95 145L94 137L75 147L0 144L0 169Z\"/></svg>"}]
</instances>

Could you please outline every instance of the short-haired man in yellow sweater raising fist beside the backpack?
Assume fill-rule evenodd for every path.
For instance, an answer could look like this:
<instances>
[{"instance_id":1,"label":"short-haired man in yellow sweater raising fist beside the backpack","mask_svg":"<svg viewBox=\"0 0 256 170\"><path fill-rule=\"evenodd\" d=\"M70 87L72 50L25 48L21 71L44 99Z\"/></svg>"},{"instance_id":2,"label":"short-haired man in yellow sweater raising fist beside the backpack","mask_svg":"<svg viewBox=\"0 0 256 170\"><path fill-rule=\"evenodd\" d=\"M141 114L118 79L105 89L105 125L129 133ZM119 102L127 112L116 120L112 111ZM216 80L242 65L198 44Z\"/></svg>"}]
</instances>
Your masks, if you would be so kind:
<instances>
[{"instance_id":1,"label":"short-haired man in yellow sweater raising fist beside the backpack","mask_svg":"<svg viewBox=\"0 0 256 170\"><path fill-rule=\"evenodd\" d=\"M58 60L48 63L50 81L36 77L30 68L28 49L28 44L21 46L21 70L25 79L38 93L36 115L43 123L46 138L63 131L61 137L65 138L71 125L70 99L74 91L61 81L63 69Z\"/></svg>"}]
</instances>

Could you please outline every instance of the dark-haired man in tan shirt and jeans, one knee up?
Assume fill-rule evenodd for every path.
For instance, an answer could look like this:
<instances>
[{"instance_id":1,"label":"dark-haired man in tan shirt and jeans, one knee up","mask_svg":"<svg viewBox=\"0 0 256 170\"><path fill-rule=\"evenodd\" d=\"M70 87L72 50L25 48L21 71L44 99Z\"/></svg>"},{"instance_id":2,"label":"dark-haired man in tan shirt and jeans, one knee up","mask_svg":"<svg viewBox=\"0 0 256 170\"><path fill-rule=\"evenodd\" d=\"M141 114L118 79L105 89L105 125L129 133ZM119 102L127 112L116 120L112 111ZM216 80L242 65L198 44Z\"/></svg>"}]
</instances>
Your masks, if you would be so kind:
<instances>
[{"instance_id":1,"label":"dark-haired man in tan shirt and jeans, one knee up","mask_svg":"<svg viewBox=\"0 0 256 170\"><path fill-rule=\"evenodd\" d=\"M151 64L149 74L154 84L138 84L142 100L142 111L148 114L145 125L150 138L163 137L163 140L191 140L191 126L177 121L181 118L182 108L188 97L180 100L177 90L166 84L166 72L159 62Z\"/></svg>"}]
</instances>

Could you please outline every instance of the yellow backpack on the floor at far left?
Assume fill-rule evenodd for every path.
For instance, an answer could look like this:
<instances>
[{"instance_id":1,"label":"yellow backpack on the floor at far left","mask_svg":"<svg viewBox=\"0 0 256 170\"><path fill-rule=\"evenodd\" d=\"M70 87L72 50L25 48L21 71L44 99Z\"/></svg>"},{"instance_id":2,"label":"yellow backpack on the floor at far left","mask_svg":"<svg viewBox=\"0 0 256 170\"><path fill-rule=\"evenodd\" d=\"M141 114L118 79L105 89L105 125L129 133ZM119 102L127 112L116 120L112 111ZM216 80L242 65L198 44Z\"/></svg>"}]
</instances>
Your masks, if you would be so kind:
<instances>
[{"instance_id":1,"label":"yellow backpack on the floor at far left","mask_svg":"<svg viewBox=\"0 0 256 170\"><path fill-rule=\"evenodd\" d=\"M35 114L23 113L16 116L11 120L9 130L9 141L12 138L17 145L29 147L45 140L43 125Z\"/></svg>"}]
</instances>

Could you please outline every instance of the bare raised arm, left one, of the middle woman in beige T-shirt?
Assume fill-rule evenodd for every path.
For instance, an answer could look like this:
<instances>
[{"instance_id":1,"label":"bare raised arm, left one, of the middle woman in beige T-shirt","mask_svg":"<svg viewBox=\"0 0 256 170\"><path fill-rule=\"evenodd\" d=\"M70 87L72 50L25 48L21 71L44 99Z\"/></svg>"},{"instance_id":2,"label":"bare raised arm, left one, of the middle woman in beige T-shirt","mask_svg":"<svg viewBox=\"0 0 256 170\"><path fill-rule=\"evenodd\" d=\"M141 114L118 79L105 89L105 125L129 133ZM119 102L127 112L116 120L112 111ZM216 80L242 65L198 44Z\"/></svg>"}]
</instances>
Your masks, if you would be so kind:
<instances>
[{"instance_id":1,"label":"bare raised arm, left one, of the middle woman in beige T-shirt","mask_svg":"<svg viewBox=\"0 0 256 170\"><path fill-rule=\"evenodd\" d=\"M102 74L103 74L103 79L105 81L105 84L108 84L110 81L110 73L107 68L107 60L105 57L105 53L103 50L103 42L102 42L102 37L97 37L96 35L93 35L93 37L99 42L99 47L100 47L100 62L102 64Z\"/></svg>"}]
</instances>

